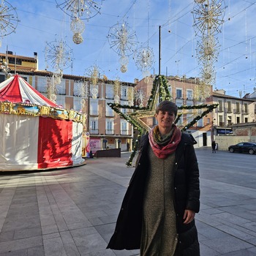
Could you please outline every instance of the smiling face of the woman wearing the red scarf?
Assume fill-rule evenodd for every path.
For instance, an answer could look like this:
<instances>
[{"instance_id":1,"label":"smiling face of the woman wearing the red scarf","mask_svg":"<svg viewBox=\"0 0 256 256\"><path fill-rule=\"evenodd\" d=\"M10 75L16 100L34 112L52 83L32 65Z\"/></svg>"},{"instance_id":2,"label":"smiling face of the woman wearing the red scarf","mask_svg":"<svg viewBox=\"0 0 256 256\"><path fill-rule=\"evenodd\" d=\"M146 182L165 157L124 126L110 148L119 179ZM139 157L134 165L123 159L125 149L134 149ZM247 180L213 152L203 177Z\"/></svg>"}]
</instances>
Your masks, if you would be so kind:
<instances>
[{"instance_id":1,"label":"smiling face of the woman wearing the red scarf","mask_svg":"<svg viewBox=\"0 0 256 256\"><path fill-rule=\"evenodd\" d=\"M157 118L159 132L162 135L170 132L170 129L172 129L173 126L173 121L175 120L174 113L159 110L159 113L156 113L155 117Z\"/></svg>"}]
</instances>

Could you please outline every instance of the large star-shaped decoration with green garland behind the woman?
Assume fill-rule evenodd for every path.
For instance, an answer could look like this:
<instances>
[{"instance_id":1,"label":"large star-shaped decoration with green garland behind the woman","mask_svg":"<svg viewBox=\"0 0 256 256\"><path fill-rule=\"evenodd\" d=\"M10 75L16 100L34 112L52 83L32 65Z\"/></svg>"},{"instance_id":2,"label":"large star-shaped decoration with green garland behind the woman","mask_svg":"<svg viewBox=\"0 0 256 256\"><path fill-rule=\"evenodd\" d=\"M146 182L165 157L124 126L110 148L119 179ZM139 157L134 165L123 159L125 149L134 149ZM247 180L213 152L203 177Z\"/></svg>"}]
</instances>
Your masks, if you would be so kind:
<instances>
[{"instance_id":1,"label":"large star-shaped decoration with green garland behind the woman","mask_svg":"<svg viewBox=\"0 0 256 256\"><path fill-rule=\"evenodd\" d=\"M135 141L135 146L133 147L132 154L129 157L128 162L126 163L127 166L132 166L132 159L135 157L138 143L140 137L146 134L151 127L143 121L143 118L154 117L155 109L157 107L158 102L162 102L163 100L170 100L170 92L168 91L167 80L164 75L158 75L154 82L153 87L151 90L151 96L148 99L148 103L146 107L140 108L138 106L129 106L129 105L120 105L115 103L108 103L110 108L112 108L119 116L127 120L132 126L138 130L138 138ZM217 108L218 104L213 105L194 105L194 106L181 106L178 107L178 115L176 118L175 123L177 124L180 120L181 116L189 115L189 124L181 124L178 127L181 131L185 131L189 129L192 125L194 125L197 121L199 121L203 116L206 116L210 113L214 108ZM129 113L122 113L121 109L129 109L134 110L134 112ZM198 113L196 110L203 110L202 113Z\"/></svg>"}]
</instances>

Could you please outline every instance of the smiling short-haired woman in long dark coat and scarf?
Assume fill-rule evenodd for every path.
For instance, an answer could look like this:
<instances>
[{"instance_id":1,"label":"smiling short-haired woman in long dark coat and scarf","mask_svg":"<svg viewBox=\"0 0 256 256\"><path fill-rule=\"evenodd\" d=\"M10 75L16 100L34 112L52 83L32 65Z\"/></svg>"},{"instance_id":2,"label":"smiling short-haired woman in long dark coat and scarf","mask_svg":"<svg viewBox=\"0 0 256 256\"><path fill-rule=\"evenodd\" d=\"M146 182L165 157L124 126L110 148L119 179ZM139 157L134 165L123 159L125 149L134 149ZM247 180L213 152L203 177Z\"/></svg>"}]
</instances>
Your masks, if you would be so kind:
<instances>
[{"instance_id":1,"label":"smiling short-haired woman in long dark coat and scarf","mask_svg":"<svg viewBox=\"0 0 256 256\"><path fill-rule=\"evenodd\" d=\"M135 172L107 248L140 249L140 255L199 256L195 213L199 170L191 135L173 124L178 108L160 102L158 125L141 138Z\"/></svg>"}]
</instances>

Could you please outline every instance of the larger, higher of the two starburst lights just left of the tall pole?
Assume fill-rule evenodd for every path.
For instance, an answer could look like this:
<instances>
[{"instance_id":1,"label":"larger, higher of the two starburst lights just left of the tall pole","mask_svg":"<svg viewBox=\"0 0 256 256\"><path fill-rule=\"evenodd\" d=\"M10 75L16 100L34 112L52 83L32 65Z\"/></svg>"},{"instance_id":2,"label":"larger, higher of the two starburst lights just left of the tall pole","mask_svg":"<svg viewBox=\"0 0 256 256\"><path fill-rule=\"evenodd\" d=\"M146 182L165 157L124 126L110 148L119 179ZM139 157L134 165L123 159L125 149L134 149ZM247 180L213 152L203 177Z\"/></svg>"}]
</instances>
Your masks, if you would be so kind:
<instances>
[{"instance_id":1,"label":"larger, higher of the two starburst lights just left of the tall pole","mask_svg":"<svg viewBox=\"0 0 256 256\"><path fill-rule=\"evenodd\" d=\"M110 48L121 56L119 59L121 72L127 72L128 56L135 52L138 45L135 32L129 28L127 23L121 25L117 23L108 31L108 42Z\"/></svg>"}]
</instances>

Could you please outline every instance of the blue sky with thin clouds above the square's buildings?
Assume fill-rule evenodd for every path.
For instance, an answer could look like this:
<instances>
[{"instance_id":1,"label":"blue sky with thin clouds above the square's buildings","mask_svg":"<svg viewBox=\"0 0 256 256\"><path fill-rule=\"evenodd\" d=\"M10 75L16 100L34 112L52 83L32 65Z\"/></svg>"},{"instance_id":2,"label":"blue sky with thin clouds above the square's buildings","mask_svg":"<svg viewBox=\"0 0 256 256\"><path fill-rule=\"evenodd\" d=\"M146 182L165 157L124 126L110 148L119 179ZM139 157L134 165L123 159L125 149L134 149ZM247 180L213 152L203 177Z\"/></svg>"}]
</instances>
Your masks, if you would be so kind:
<instances>
[{"instance_id":1,"label":"blue sky with thin clouds above the square's buildings","mask_svg":"<svg viewBox=\"0 0 256 256\"><path fill-rule=\"evenodd\" d=\"M66 0L69 2L70 0ZM243 97L256 90L255 0L206 0L221 3L224 23L215 35L219 50L214 63L216 79L213 89L224 89L227 95ZM178 75L199 78L202 65L197 59L197 42L201 42L194 25L197 4L192 0L95 0L99 13L83 20L83 42L72 41L71 18L64 12L65 0L8 0L15 7L18 25L15 32L1 38L1 53L12 51L19 56L37 53L39 69L53 71L45 53L51 46L64 42L72 61L67 61L64 74L89 75L97 67L110 80L133 83L143 72L136 66L136 48L151 49L154 63L151 75ZM28 4L29 3L29 4ZM118 49L108 35L125 23L135 35L127 72L121 72ZM113 34L113 33L112 33ZM159 61L160 56L160 61ZM159 70L160 69L160 70Z\"/></svg>"}]
</instances>

